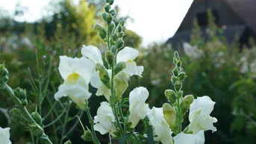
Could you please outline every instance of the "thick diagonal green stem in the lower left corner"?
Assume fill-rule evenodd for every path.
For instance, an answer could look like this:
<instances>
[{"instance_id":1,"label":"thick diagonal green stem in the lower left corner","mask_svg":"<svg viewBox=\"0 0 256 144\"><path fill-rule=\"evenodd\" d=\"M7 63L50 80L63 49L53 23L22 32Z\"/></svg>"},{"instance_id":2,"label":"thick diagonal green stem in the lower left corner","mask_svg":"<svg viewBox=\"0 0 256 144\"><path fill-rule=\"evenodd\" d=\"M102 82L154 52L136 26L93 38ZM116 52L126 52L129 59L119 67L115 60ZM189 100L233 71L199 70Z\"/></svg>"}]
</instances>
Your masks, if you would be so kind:
<instances>
[{"instance_id":1,"label":"thick diagonal green stem in the lower left corner","mask_svg":"<svg viewBox=\"0 0 256 144\"><path fill-rule=\"evenodd\" d=\"M22 111L22 114L25 116L25 118L28 120L28 123L31 125L31 124L34 124L34 123L37 123L34 121L34 119L32 118L32 116L30 115L30 113L28 113L28 110L22 106L22 102L19 100L19 98L17 98L15 96L15 94L13 93L13 90L7 85L4 83L4 89L7 90L7 93L8 93L8 96L10 96L10 98L13 99L14 103L16 105L18 105L19 107L19 110ZM52 144L51 143L51 140L49 139L49 137L43 132L43 138L40 137L41 140L43 140L46 144Z\"/></svg>"}]
</instances>

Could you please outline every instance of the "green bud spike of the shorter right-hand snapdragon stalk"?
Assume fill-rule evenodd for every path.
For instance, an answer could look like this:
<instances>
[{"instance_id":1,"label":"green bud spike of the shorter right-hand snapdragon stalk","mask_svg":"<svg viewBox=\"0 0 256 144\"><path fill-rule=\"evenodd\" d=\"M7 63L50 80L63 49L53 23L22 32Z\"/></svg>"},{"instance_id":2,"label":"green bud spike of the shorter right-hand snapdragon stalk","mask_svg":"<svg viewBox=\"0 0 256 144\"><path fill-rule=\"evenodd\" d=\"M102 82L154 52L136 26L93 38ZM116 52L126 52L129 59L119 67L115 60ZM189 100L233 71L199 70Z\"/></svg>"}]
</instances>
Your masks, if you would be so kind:
<instances>
[{"instance_id":1,"label":"green bud spike of the shorter right-hand snapdragon stalk","mask_svg":"<svg viewBox=\"0 0 256 144\"><path fill-rule=\"evenodd\" d=\"M174 90L166 90L165 96L168 99L169 103L163 104L163 115L168 122L169 127L172 130L178 131L178 125L183 121L183 117L187 110L190 108L190 104L193 103L194 97L192 95L185 96L183 98L182 81L187 77L185 72L181 72L181 59L178 55L178 52L175 51L173 57L173 63L175 64L175 68L172 70L172 84L174 86Z\"/></svg>"}]
</instances>

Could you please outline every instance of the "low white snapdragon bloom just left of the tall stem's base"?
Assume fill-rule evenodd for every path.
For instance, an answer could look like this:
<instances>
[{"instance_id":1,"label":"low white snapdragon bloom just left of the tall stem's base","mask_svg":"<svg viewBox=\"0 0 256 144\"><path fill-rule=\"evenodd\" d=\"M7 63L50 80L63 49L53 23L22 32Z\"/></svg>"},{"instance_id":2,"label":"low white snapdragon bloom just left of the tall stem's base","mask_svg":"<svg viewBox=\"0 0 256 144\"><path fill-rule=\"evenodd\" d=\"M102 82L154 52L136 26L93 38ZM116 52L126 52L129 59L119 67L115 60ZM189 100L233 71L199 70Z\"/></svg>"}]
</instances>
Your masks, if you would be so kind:
<instances>
[{"instance_id":1,"label":"low white snapdragon bloom just left of the tall stem's base","mask_svg":"<svg viewBox=\"0 0 256 144\"><path fill-rule=\"evenodd\" d=\"M94 116L95 131L99 131L101 134L110 133L113 135L113 132L116 131L115 125L113 124L115 121L112 108L106 101L103 101L97 110L97 116Z\"/></svg>"}]
</instances>

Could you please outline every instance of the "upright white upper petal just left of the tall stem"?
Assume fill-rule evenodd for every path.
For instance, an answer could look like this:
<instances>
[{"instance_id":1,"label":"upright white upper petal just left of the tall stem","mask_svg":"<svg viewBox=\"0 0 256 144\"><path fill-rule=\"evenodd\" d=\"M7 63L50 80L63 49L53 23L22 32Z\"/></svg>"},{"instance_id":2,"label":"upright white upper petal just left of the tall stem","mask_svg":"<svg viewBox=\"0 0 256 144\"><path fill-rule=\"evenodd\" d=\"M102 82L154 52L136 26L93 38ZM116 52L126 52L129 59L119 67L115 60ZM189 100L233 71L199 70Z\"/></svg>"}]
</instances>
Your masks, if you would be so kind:
<instances>
[{"instance_id":1,"label":"upright white upper petal just left of the tall stem","mask_svg":"<svg viewBox=\"0 0 256 144\"><path fill-rule=\"evenodd\" d=\"M103 65L102 53L96 46L83 46L81 53L84 57L92 60L95 65L96 63L101 63Z\"/></svg>"}]
</instances>

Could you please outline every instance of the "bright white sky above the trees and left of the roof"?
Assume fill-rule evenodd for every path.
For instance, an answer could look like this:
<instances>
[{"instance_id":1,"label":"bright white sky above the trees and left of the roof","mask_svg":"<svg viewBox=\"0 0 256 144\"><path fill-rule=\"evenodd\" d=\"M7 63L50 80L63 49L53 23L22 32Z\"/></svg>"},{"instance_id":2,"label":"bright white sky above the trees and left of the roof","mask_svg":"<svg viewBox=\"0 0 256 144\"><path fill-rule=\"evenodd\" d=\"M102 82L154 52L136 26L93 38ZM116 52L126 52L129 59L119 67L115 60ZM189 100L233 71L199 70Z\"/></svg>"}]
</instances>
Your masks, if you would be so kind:
<instances>
[{"instance_id":1,"label":"bright white sky above the trees and left of the roof","mask_svg":"<svg viewBox=\"0 0 256 144\"><path fill-rule=\"evenodd\" d=\"M0 9L12 14L19 1L28 7L22 17L16 20L34 22L49 14L45 8L51 0L0 0ZM78 1L78 0L74 0ZM120 7L120 16L129 15L133 22L126 22L129 30L143 37L143 46L164 43L175 34L193 0L115 0Z\"/></svg>"}]
</instances>

